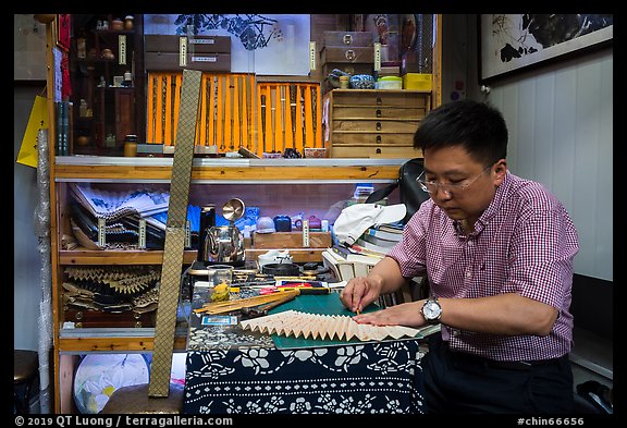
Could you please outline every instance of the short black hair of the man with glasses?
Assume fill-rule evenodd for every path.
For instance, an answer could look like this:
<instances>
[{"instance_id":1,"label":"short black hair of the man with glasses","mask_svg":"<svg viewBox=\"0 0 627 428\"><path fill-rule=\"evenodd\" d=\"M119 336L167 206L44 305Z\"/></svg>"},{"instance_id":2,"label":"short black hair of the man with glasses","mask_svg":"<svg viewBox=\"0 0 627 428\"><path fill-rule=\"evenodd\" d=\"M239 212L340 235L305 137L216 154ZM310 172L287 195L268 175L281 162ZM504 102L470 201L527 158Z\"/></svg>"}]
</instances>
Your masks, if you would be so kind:
<instances>
[{"instance_id":1,"label":"short black hair of the man with glasses","mask_svg":"<svg viewBox=\"0 0 627 428\"><path fill-rule=\"evenodd\" d=\"M414 148L462 146L485 167L507 157L507 125L494 107L474 100L444 103L431 110L414 134Z\"/></svg>"}]
</instances>

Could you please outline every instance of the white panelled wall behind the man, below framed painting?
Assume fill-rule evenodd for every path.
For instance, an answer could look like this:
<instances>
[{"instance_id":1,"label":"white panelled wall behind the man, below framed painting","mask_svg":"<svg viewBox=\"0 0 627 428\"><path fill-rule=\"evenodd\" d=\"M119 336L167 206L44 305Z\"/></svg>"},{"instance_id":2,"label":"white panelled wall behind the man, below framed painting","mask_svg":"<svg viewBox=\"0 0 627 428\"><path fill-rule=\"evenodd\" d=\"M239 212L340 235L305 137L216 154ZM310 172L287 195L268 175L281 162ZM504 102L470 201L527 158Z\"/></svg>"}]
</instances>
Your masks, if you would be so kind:
<instances>
[{"instance_id":1,"label":"white panelled wall behind the man, below framed painting","mask_svg":"<svg viewBox=\"0 0 627 428\"><path fill-rule=\"evenodd\" d=\"M491 84L509 129L509 169L546 185L579 233L575 271L613 280L613 51Z\"/></svg>"}]
</instances>

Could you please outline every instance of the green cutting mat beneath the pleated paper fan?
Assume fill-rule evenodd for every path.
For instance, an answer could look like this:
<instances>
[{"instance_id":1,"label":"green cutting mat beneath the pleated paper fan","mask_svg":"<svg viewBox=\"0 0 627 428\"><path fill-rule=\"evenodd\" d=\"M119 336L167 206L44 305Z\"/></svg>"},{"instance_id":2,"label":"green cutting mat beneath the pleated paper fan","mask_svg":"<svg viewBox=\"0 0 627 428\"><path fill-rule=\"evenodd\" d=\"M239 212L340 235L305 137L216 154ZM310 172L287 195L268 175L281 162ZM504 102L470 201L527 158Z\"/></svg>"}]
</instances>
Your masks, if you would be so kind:
<instances>
[{"instance_id":1,"label":"green cutting mat beneath the pleated paper fan","mask_svg":"<svg viewBox=\"0 0 627 428\"><path fill-rule=\"evenodd\" d=\"M369 305L365 313L372 313L379 310L380 307L377 305ZM321 315L346 315L353 316L354 311L348 310L340 302L340 294L331 293L327 295L300 295L296 296L295 299L284 303L281 306L271 309L269 314L278 314L284 310L298 310L300 313L308 314L321 314ZM340 340L328 340L328 339L303 339L294 338L293 335L284 337L272 334L272 340L274 341L274 346L278 350L288 350L288 348L299 348L299 347L312 347L312 346L329 346L329 345L345 345L347 343L364 343L358 339L353 339L349 341Z\"/></svg>"}]
</instances>

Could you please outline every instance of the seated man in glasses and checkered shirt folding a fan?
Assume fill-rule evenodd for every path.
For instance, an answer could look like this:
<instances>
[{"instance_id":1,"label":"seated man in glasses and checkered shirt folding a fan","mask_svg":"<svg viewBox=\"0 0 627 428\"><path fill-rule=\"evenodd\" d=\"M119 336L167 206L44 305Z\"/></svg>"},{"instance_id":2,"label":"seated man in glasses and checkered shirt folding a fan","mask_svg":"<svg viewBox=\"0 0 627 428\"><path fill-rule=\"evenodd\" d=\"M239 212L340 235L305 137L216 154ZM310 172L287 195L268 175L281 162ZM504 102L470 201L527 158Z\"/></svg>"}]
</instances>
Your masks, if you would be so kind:
<instances>
[{"instance_id":1,"label":"seated man in glasses and checkered shirt folding a fan","mask_svg":"<svg viewBox=\"0 0 627 428\"><path fill-rule=\"evenodd\" d=\"M426 276L431 296L356 315L372 325L442 326L422 359L426 413L553 413L574 407L568 353L577 231L541 184L507 170L507 127L494 108L455 101L417 130L431 198L403 240L343 304L360 311Z\"/></svg>"}]
</instances>

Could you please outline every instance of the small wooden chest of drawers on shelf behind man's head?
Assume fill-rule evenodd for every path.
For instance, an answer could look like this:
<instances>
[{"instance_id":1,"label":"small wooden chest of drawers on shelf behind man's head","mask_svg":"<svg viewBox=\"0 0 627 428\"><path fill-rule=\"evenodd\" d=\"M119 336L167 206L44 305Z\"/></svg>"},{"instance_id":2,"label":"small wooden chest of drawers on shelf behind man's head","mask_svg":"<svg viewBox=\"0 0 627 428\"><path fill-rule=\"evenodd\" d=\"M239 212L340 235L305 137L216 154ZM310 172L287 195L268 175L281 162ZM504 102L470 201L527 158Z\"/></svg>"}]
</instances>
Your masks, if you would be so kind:
<instances>
[{"instance_id":1,"label":"small wooden chest of drawers on shelf behind man's head","mask_svg":"<svg viewBox=\"0 0 627 428\"><path fill-rule=\"evenodd\" d=\"M415 158L414 133L431 91L334 89L324 96L324 147L332 158Z\"/></svg>"}]
</instances>

